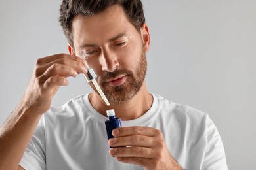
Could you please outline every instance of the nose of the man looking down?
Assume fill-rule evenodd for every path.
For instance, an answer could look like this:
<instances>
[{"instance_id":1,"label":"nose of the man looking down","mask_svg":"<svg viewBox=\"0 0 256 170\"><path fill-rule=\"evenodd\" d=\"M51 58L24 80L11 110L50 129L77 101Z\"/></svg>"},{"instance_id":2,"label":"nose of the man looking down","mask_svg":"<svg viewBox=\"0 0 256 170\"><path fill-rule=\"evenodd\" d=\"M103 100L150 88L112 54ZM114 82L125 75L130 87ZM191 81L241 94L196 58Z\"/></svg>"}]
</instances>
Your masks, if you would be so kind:
<instances>
[{"instance_id":1,"label":"nose of the man looking down","mask_svg":"<svg viewBox=\"0 0 256 170\"><path fill-rule=\"evenodd\" d=\"M119 67L117 55L110 49L102 50L100 63L102 65L102 71L113 72L117 67Z\"/></svg>"}]
</instances>

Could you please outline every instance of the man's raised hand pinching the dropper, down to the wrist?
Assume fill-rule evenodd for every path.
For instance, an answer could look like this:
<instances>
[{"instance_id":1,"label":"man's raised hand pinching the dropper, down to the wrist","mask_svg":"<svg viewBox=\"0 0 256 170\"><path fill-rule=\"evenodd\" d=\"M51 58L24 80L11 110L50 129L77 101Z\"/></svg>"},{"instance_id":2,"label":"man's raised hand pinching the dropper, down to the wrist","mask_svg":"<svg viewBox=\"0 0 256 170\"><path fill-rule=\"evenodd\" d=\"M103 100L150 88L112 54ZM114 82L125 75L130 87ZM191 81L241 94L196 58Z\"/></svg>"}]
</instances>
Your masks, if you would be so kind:
<instances>
[{"instance_id":1,"label":"man's raised hand pinching the dropper, down to the wrist","mask_svg":"<svg viewBox=\"0 0 256 170\"><path fill-rule=\"evenodd\" d=\"M85 60L68 54L56 54L37 59L24 103L35 113L43 114L60 86L68 85L66 78L87 73Z\"/></svg>"}]
</instances>

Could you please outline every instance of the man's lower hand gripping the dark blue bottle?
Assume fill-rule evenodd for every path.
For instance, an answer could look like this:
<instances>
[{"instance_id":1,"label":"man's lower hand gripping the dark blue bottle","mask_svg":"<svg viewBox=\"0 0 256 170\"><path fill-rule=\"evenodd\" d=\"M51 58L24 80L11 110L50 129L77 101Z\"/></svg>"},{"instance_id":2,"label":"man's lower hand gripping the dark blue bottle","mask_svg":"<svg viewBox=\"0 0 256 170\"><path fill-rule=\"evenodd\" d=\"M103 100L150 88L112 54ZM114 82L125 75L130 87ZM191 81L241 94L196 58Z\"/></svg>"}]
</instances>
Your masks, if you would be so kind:
<instances>
[{"instance_id":1,"label":"man's lower hand gripping the dark blue bottle","mask_svg":"<svg viewBox=\"0 0 256 170\"><path fill-rule=\"evenodd\" d=\"M117 161L148 169L182 169L169 153L163 134L150 127L120 127L112 131L108 141L110 155Z\"/></svg>"}]
</instances>

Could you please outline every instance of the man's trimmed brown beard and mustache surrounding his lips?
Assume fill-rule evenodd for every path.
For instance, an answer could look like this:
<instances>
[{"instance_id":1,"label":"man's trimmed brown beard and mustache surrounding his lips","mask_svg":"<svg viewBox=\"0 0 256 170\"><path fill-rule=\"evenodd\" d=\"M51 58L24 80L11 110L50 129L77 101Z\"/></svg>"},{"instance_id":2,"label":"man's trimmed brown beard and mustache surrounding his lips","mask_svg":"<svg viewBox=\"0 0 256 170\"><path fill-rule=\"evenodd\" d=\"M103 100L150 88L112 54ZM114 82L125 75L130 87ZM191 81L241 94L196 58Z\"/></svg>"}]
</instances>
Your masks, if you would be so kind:
<instances>
[{"instance_id":1,"label":"man's trimmed brown beard and mustache surrounding his lips","mask_svg":"<svg viewBox=\"0 0 256 170\"><path fill-rule=\"evenodd\" d=\"M127 69L118 69L114 72L105 72L98 76L98 84L110 103L124 103L125 101L132 99L139 92L145 80L146 69L146 52L142 47L140 61L136 65L134 73L133 71L129 71ZM106 80L123 74L127 76L125 83L115 87L107 86ZM94 86L92 86L92 88L95 90L95 92L97 92Z\"/></svg>"}]
</instances>

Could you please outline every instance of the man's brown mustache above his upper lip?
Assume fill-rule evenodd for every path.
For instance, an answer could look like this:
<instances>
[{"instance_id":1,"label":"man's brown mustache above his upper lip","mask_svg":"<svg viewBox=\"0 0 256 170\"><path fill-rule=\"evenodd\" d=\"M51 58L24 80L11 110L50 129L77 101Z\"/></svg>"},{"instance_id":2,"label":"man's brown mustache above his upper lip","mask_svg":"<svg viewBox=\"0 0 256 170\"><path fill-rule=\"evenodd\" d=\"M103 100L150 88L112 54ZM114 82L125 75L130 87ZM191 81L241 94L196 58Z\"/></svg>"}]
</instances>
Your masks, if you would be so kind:
<instances>
[{"instance_id":1,"label":"man's brown mustache above his upper lip","mask_svg":"<svg viewBox=\"0 0 256 170\"><path fill-rule=\"evenodd\" d=\"M106 82L106 80L110 79L110 78L115 78L116 76L119 75L133 75L133 73L131 71L128 71L126 69L120 69L120 70L116 70L113 72L104 72L102 73L102 75L98 76L98 82L100 84L104 84L104 82Z\"/></svg>"}]
</instances>

